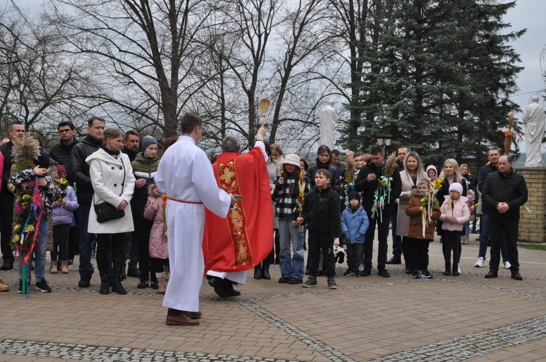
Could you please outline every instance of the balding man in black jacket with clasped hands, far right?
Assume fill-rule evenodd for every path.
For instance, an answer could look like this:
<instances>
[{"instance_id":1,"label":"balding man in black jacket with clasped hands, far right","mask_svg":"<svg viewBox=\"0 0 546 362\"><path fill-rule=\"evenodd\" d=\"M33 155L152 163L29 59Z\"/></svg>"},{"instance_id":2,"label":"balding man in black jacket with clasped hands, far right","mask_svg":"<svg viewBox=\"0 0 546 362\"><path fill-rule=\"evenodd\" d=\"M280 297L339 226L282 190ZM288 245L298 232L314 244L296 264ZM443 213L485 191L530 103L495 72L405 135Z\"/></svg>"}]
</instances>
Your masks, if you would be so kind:
<instances>
[{"instance_id":1,"label":"balding man in black jacket with clasped hands, far right","mask_svg":"<svg viewBox=\"0 0 546 362\"><path fill-rule=\"evenodd\" d=\"M498 159L498 171L485 179L482 198L488 206L491 233L491 260L486 278L498 276L498 263L502 237L506 237L508 261L512 279L522 280L518 262L519 208L527 202L527 185L520 174L512 170L512 158L503 155Z\"/></svg>"}]
</instances>

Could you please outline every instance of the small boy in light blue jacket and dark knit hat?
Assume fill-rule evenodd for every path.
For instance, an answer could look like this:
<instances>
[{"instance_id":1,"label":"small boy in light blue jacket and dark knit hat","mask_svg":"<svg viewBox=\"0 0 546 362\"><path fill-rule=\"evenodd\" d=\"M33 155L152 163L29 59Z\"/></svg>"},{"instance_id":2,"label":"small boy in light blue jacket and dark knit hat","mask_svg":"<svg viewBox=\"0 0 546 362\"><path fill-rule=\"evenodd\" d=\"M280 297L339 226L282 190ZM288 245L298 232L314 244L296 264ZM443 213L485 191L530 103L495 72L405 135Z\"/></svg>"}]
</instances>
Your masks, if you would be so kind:
<instances>
[{"instance_id":1,"label":"small boy in light blue jacket and dark knit hat","mask_svg":"<svg viewBox=\"0 0 546 362\"><path fill-rule=\"evenodd\" d=\"M341 214L341 232L347 244L347 271L343 275L360 276L358 269L362 262L364 236L370 222L364 208L360 205L360 194L349 192L349 206Z\"/></svg>"}]
</instances>

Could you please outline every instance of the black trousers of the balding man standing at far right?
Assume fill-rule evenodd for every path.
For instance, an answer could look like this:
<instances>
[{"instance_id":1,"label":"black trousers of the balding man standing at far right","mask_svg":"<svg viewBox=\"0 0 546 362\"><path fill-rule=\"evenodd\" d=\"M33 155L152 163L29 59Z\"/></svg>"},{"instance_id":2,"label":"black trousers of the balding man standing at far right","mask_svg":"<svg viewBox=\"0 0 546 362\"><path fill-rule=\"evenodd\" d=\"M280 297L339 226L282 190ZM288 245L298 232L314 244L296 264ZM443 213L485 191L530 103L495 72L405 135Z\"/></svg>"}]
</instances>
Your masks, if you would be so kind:
<instances>
[{"instance_id":1,"label":"black trousers of the balding man standing at far right","mask_svg":"<svg viewBox=\"0 0 546 362\"><path fill-rule=\"evenodd\" d=\"M519 220L489 219L489 234L491 236L491 259L489 268L498 270L498 263L501 260L502 237L506 237L508 248L508 262L511 264L511 271L519 271L518 260L518 228Z\"/></svg>"}]
</instances>

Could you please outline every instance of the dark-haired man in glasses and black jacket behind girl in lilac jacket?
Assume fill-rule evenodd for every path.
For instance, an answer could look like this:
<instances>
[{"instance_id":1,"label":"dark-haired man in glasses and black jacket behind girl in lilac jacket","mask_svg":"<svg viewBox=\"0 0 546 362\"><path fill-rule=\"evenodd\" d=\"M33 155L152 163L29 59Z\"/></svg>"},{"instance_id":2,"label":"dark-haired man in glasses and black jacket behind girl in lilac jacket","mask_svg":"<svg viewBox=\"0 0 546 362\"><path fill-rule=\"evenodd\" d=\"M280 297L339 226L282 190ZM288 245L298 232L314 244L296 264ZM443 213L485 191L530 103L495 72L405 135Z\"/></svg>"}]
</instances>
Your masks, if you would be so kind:
<instances>
[{"instance_id":1,"label":"dark-haired man in glasses and black jacket behind girl in lilac jacket","mask_svg":"<svg viewBox=\"0 0 546 362\"><path fill-rule=\"evenodd\" d=\"M61 141L55 143L49 150L50 158L56 160L60 165L63 165L67 170L67 175L70 174L70 153L76 144L80 141L74 136L75 127L70 121L63 121L57 126ZM72 184L72 186L74 186ZM80 248L80 214L79 210L74 212L74 220L76 226L70 227L68 234L68 265L74 262L74 255L78 254Z\"/></svg>"}]
</instances>

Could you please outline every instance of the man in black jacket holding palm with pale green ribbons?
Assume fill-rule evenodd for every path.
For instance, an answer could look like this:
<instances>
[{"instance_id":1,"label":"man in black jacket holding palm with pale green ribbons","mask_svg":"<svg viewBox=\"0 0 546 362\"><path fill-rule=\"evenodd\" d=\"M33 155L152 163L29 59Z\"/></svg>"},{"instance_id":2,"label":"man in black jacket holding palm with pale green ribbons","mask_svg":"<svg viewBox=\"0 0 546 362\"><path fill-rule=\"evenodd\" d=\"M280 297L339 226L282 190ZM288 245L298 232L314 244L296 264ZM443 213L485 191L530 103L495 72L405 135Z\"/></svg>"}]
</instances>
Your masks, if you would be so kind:
<instances>
[{"instance_id":1,"label":"man in black jacket holding palm with pale green ribbons","mask_svg":"<svg viewBox=\"0 0 546 362\"><path fill-rule=\"evenodd\" d=\"M372 269L372 251L373 251L373 238L375 236L375 227L377 223L377 234L379 240L379 254L377 256L377 275L383 277L389 277L385 264L387 263L387 250L389 248L387 244L387 238L389 237L389 224L390 216L394 212L394 203L402 192L402 180L400 179L400 172L395 169L393 173L393 180L390 185L390 198L384 200L383 204L377 201L377 211L372 218L372 207L375 201L375 192L378 186L378 179L384 176L385 167L385 152L381 146L373 146L370 149L371 162L368 162L366 166L360 169L357 180L354 184L354 189L358 192L362 192L362 206L368 214L370 220L370 227L366 232L364 240L364 269L362 276L371 275ZM382 195L379 195L380 197Z\"/></svg>"}]
</instances>

